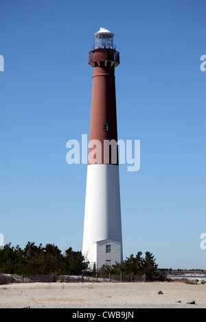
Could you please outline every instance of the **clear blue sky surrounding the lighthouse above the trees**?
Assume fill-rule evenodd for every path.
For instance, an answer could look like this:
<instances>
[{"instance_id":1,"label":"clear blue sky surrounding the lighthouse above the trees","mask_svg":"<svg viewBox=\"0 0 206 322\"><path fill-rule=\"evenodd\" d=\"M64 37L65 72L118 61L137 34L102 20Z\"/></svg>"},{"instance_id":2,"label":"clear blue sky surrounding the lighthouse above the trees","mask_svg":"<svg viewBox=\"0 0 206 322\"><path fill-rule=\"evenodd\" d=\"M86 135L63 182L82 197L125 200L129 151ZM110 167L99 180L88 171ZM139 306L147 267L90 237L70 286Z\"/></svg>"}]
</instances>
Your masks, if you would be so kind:
<instances>
[{"instance_id":1,"label":"clear blue sky surrounding the lighthouse above the trees","mask_svg":"<svg viewBox=\"0 0 206 322\"><path fill-rule=\"evenodd\" d=\"M141 166L119 166L124 258L150 251L162 268L206 269L206 2L0 3L0 232L4 243L82 249L87 165L67 140L89 135L100 27L115 34L118 136L140 140Z\"/></svg>"}]
</instances>

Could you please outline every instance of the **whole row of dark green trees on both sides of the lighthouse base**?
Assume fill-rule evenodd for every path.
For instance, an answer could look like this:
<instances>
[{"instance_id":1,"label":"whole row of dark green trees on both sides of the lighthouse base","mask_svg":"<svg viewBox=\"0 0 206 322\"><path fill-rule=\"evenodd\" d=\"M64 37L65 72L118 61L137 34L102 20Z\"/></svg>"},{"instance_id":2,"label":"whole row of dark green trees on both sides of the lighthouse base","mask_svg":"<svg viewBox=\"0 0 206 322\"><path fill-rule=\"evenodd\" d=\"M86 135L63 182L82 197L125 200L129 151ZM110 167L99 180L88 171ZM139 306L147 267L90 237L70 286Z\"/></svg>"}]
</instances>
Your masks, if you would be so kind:
<instances>
[{"instance_id":1,"label":"whole row of dark green trees on both sides of the lighthouse base","mask_svg":"<svg viewBox=\"0 0 206 322\"><path fill-rule=\"evenodd\" d=\"M133 274L145 275L147 281L163 280L157 269L155 256L146 251L145 257L139 251L136 256L131 254L121 263L113 265L104 264L98 270L101 275ZM73 251L69 247L65 253L54 244L35 245L28 242L24 249L19 245L11 246L6 244L0 250L0 273L17 275L92 275L97 273L94 269L89 269L89 262L86 262L81 251Z\"/></svg>"}]
</instances>

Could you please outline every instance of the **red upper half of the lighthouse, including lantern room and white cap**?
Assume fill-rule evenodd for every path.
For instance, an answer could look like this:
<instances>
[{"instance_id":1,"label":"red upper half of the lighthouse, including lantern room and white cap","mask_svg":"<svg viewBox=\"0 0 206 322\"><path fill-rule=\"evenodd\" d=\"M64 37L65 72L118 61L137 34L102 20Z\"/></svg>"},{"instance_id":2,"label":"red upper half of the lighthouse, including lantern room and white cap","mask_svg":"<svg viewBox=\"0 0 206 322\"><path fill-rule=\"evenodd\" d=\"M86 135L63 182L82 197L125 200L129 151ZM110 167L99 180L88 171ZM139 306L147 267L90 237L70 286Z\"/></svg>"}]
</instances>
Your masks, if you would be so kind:
<instances>
[{"instance_id":1,"label":"red upper half of the lighthouse, including lantern room and white cap","mask_svg":"<svg viewBox=\"0 0 206 322\"><path fill-rule=\"evenodd\" d=\"M100 28L95 34L94 49L89 52L89 64L93 66L89 156L94 158L89 158L88 164L119 164L115 97L119 52L113 45L113 36L107 29ZM113 144L112 150L108 143Z\"/></svg>"}]
</instances>

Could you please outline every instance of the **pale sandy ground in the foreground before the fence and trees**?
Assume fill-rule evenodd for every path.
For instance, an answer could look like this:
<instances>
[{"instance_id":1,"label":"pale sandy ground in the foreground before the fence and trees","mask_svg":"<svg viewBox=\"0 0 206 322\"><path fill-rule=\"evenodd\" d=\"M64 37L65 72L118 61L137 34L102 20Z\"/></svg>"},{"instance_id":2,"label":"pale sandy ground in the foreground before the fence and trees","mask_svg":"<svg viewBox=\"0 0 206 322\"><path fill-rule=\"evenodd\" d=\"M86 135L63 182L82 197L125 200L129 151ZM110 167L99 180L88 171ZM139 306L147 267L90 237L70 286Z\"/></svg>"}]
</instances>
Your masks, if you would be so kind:
<instances>
[{"instance_id":1,"label":"pale sandy ground in the foreground before the fence and trees","mask_svg":"<svg viewBox=\"0 0 206 322\"><path fill-rule=\"evenodd\" d=\"M158 294L159 290L163 294ZM187 304L193 300L195 304ZM0 308L27 306L30 308L206 308L206 284L56 282L0 285Z\"/></svg>"}]
</instances>

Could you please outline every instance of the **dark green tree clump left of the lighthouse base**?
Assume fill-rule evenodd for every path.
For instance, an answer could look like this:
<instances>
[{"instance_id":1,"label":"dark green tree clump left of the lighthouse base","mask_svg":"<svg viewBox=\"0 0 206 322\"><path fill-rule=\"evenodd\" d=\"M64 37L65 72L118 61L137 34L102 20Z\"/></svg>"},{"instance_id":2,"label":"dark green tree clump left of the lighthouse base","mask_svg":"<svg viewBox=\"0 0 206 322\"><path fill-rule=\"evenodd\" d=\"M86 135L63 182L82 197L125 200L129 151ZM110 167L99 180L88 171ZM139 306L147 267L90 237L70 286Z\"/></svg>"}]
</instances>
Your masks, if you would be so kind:
<instances>
[{"instance_id":1,"label":"dark green tree clump left of the lighthouse base","mask_svg":"<svg viewBox=\"0 0 206 322\"><path fill-rule=\"evenodd\" d=\"M80 275L88 267L81 251L69 247L64 254L56 245L28 242L24 249L6 244L0 250L0 272L17 275Z\"/></svg>"}]
</instances>

